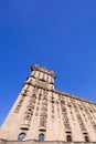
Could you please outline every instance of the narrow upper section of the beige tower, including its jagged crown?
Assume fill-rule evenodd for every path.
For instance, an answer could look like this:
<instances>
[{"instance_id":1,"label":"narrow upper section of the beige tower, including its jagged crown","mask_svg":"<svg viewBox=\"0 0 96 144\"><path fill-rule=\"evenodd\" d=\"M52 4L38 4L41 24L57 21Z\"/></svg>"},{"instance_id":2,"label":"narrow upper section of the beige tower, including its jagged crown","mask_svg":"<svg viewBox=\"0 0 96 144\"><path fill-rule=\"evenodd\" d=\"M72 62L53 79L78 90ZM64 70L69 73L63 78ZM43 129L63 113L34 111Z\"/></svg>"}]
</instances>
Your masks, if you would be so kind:
<instances>
[{"instance_id":1,"label":"narrow upper section of the beige tower, including its jagged crown","mask_svg":"<svg viewBox=\"0 0 96 144\"><path fill-rule=\"evenodd\" d=\"M30 81L34 86L44 90L55 90L54 79L56 75L53 71L49 71L45 66L39 66L38 64L31 65L31 71Z\"/></svg>"}]
</instances>

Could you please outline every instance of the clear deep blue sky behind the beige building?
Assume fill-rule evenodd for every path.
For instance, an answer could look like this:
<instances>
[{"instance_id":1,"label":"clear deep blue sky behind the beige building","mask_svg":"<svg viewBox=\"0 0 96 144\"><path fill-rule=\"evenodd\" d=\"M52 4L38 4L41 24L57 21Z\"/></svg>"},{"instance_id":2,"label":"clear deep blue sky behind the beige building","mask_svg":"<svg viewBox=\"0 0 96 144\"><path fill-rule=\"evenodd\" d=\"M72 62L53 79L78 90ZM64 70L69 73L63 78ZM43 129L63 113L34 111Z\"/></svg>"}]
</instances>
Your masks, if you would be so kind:
<instances>
[{"instance_id":1,"label":"clear deep blue sky behind the beige building","mask_svg":"<svg viewBox=\"0 0 96 144\"><path fill-rule=\"evenodd\" d=\"M34 63L96 102L96 0L0 1L0 125Z\"/></svg>"}]
</instances>

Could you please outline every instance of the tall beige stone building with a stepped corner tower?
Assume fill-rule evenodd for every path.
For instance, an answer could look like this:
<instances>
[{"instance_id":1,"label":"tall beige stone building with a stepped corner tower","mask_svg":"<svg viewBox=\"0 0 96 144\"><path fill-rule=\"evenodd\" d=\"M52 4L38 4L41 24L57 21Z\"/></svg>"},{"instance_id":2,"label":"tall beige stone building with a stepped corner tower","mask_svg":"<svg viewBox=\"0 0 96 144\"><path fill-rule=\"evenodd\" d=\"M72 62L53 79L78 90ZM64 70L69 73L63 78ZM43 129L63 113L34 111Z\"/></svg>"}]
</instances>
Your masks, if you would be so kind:
<instances>
[{"instance_id":1,"label":"tall beige stone building with a stepped corner tower","mask_svg":"<svg viewBox=\"0 0 96 144\"><path fill-rule=\"evenodd\" d=\"M55 90L53 71L36 64L31 70L1 126L1 144L95 143L96 104Z\"/></svg>"}]
</instances>

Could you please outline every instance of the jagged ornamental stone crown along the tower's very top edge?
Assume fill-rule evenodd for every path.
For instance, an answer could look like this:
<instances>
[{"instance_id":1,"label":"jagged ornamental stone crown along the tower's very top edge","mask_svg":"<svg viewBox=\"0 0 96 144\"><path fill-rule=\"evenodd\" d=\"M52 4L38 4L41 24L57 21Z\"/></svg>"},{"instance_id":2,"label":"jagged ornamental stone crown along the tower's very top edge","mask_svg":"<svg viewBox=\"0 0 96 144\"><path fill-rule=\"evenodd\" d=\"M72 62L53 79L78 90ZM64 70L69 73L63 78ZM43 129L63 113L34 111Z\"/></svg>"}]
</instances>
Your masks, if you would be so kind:
<instances>
[{"instance_id":1,"label":"jagged ornamental stone crown along the tower's very top edge","mask_svg":"<svg viewBox=\"0 0 96 144\"><path fill-rule=\"evenodd\" d=\"M49 71L45 66L39 66L38 64L34 64L34 65L31 65L31 71L33 71L33 70L46 73L46 74L51 75L53 79L56 78L56 74L53 71Z\"/></svg>"}]
</instances>

